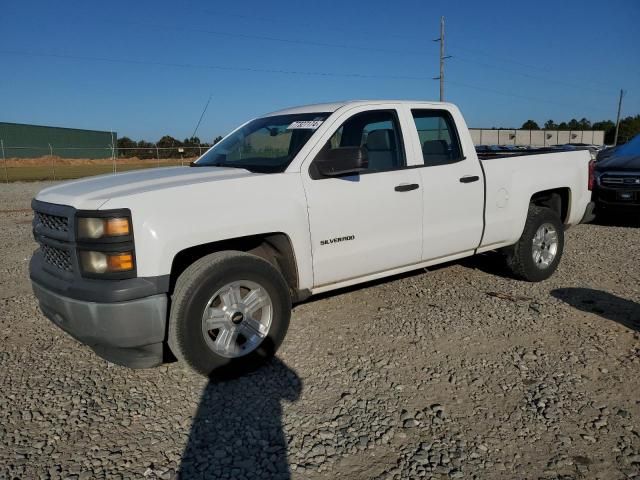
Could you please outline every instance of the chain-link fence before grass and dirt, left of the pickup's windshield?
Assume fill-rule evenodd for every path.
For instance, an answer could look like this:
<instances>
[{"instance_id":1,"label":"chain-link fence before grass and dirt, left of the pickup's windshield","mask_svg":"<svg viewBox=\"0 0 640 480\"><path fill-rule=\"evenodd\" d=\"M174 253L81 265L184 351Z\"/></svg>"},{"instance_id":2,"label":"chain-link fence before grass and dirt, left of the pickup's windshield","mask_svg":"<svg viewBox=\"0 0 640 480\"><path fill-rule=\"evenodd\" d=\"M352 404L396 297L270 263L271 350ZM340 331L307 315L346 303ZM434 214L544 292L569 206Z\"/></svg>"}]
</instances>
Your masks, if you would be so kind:
<instances>
[{"instance_id":1,"label":"chain-link fence before grass and dirt, left of the pickup's windshield","mask_svg":"<svg viewBox=\"0 0 640 480\"><path fill-rule=\"evenodd\" d=\"M68 180L143 168L189 165L208 146L160 147L56 147L8 146L0 139L5 183L15 181ZM78 158L82 151L87 157ZM1 177L0 177L1 178ZM1 180L0 180L1 181Z\"/></svg>"}]
</instances>

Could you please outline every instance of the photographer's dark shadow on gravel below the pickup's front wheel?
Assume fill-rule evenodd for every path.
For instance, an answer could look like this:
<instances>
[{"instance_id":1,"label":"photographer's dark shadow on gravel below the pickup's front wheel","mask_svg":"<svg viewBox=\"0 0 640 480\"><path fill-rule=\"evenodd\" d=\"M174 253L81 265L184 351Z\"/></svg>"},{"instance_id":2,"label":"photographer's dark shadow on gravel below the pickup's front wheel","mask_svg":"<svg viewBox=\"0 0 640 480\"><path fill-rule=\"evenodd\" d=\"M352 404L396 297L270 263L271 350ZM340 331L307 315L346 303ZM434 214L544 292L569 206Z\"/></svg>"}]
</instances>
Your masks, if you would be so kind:
<instances>
[{"instance_id":1,"label":"photographer's dark shadow on gravel below the pickup's front wheel","mask_svg":"<svg viewBox=\"0 0 640 480\"><path fill-rule=\"evenodd\" d=\"M177 478L291 478L282 401L295 402L298 375L274 358L259 370L205 387Z\"/></svg>"}]
</instances>

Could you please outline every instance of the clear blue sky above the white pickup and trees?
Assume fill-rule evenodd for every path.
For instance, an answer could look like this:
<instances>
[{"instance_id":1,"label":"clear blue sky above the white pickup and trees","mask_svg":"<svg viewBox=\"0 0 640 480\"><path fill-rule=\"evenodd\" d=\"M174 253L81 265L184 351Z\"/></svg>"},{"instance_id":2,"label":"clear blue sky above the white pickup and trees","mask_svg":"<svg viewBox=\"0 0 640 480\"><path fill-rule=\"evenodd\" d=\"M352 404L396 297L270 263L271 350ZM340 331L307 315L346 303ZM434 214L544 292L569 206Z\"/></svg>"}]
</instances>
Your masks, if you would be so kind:
<instances>
[{"instance_id":1,"label":"clear blue sky above the white pickup and trees","mask_svg":"<svg viewBox=\"0 0 640 480\"><path fill-rule=\"evenodd\" d=\"M3 2L0 121L210 140L286 106L445 99L472 127L640 113L640 2ZM297 72L297 73L294 73Z\"/></svg>"}]
</instances>

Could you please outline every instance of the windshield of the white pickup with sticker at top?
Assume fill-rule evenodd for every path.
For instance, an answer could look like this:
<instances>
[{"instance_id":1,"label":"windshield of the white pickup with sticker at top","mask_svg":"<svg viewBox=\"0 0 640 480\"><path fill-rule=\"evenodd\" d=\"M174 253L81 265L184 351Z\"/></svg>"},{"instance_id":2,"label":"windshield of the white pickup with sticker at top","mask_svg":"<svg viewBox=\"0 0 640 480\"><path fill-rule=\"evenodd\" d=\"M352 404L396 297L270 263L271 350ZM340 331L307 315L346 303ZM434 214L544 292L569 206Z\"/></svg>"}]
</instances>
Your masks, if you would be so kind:
<instances>
[{"instance_id":1,"label":"windshield of the white pickup with sticker at top","mask_svg":"<svg viewBox=\"0 0 640 480\"><path fill-rule=\"evenodd\" d=\"M279 173L289 166L330 113L275 115L252 120L200 157L195 167L235 167Z\"/></svg>"}]
</instances>

